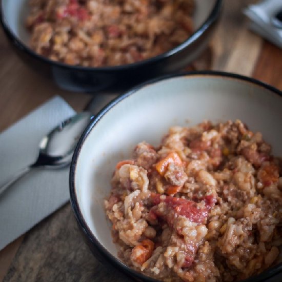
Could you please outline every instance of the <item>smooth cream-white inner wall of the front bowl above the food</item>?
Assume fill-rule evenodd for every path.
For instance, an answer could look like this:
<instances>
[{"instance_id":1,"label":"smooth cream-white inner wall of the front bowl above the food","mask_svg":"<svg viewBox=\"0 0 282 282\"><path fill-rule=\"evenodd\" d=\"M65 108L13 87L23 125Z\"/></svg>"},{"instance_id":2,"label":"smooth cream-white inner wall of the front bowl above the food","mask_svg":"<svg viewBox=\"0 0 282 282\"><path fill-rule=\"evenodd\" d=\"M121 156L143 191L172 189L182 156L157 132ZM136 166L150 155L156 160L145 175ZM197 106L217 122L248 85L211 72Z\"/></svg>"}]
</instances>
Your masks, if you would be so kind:
<instances>
[{"instance_id":1,"label":"smooth cream-white inner wall of the front bowl above the food","mask_svg":"<svg viewBox=\"0 0 282 282\"><path fill-rule=\"evenodd\" d=\"M103 115L84 140L75 168L75 193L89 230L114 256L103 200L111 189L115 164L131 158L143 140L158 145L170 126L237 118L260 131L282 156L282 97L247 80L220 75L188 75L138 89Z\"/></svg>"}]
</instances>

